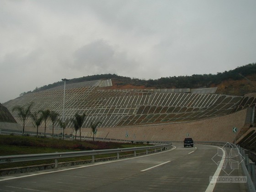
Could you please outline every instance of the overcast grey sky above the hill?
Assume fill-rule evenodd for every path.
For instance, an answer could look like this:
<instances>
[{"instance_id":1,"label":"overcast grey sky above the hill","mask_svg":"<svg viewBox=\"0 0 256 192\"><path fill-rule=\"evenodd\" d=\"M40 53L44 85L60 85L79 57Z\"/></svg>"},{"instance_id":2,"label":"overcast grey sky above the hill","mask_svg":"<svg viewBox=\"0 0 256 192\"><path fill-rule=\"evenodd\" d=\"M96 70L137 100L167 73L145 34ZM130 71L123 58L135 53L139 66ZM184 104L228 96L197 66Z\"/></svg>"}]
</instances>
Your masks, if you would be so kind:
<instances>
[{"instance_id":1,"label":"overcast grey sky above the hill","mask_svg":"<svg viewBox=\"0 0 256 192\"><path fill-rule=\"evenodd\" d=\"M256 62L256 0L0 0L0 103L62 78Z\"/></svg>"}]
</instances>

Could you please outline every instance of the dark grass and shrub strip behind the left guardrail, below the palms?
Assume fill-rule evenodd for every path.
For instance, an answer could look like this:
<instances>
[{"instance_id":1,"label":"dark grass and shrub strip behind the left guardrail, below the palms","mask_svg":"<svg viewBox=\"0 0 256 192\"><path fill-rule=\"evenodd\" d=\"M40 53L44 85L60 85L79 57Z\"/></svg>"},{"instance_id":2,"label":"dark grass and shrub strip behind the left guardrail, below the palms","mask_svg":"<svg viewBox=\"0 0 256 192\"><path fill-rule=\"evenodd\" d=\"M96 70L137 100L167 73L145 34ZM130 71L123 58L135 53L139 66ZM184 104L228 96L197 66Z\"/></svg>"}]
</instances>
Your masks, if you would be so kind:
<instances>
[{"instance_id":1,"label":"dark grass and shrub strip behind the left guardrail, below the palms","mask_svg":"<svg viewBox=\"0 0 256 192\"><path fill-rule=\"evenodd\" d=\"M67 141L62 139L49 139L49 138L35 138L28 136L13 136L13 135L0 135L0 156L5 155L27 155L39 153L55 153L55 152L70 152L70 151L83 151L83 150L97 150L97 149L123 149L131 147L149 146L148 144L131 144L131 143L117 143L117 142L99 142L99 141ZM137 151L145 152L145 150ZM122 152L122 155L133 155L133 152ZM117 154L95 155L96 159L116 157ZM58 162L70 161L83 161L91 160L92 156L81 156L74 158L59 159ZM20 163L6 163L0 164L0 169L11 167L24 167L31 165L53 164L54 160L39 160L27 161Z\"/></svg>"}]
</instances>

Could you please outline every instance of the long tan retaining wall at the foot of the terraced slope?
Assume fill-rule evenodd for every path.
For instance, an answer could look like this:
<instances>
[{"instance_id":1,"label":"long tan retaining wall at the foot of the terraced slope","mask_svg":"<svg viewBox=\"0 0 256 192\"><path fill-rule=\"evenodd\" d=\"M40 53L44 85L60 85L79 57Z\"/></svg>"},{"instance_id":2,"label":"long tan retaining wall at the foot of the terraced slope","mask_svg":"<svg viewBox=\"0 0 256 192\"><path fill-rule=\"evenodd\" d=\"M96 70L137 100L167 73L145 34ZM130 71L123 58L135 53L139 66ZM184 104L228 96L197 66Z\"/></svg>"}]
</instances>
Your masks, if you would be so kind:
<instances>
[{"instance_id":1,"label":"long tan retaining wall at the foot of the terraced slope","mask_svg":"<svg viewBox=\"0 0 256 192\"><path fill-rule=\"evenodd\" d=\"M134 127L98 128L96 137L128 140L161 140L183 141L187 137L195 141L223 141L233 142L235 133L233 128L238 128L238 133L243 127L250 126L251 108L241 110L222 117L214 117L188 123L165 123ZM34 127L26 127L25 131L34 131ZM44 128L38 129L44 133ZM52 133L52 128L46 128L47 133ZM62 133L61 128L54 129L54 133ZM66 128L65 134L73 133L72 128ZM126 133L128 137L126 138ZM79 135L79 131L77 132ZM82 128L82 136L92 137L91 128ZM134 138L135 136L135 138Z\"/></svg>"}]
</instances>

